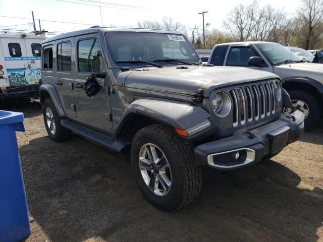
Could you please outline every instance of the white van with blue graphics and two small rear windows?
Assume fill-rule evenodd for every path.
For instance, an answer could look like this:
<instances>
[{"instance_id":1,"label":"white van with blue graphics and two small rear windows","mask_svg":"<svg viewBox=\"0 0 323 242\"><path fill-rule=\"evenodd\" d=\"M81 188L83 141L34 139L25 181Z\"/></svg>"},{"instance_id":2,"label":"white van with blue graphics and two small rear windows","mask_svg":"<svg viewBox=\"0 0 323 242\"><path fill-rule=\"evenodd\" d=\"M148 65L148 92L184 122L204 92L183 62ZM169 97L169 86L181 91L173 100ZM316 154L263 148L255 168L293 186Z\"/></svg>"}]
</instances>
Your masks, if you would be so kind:
<instances>
[{"instance_id":1,"label":"white van with blue graphics and two small rear windows","mask_svg":"<svg viewBox=\"0 0 323 242\"><path fill-rule=\"evenodd\" d=\"M0 33L0 99L38 97L43 35Z\"/></svg>"}]
</instances>

